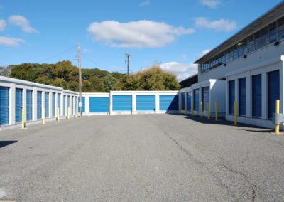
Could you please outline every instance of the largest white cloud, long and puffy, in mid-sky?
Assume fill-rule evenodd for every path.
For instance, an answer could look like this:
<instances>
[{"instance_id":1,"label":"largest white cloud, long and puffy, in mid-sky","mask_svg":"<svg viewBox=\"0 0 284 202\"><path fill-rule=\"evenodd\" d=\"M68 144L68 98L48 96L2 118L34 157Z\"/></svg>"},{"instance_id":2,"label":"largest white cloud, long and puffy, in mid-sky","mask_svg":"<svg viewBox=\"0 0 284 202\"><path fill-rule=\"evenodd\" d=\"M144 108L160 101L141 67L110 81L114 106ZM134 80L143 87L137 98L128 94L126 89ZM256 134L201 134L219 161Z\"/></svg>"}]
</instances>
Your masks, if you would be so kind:
<instances>
[{"instance_id":1,"label":"largest white cloud, long and puffy, in mid-sky","mask_svg":"<svg viewBox=\"0 0 284 202\"><path fill-rule=\"evenodd\" d=\"M178 36L195 32L192 28L173 27L155 21L94 22L90 23L87 31L94 41L122 48L161 47L172 43Z\"/></svg>"}]
</instances>

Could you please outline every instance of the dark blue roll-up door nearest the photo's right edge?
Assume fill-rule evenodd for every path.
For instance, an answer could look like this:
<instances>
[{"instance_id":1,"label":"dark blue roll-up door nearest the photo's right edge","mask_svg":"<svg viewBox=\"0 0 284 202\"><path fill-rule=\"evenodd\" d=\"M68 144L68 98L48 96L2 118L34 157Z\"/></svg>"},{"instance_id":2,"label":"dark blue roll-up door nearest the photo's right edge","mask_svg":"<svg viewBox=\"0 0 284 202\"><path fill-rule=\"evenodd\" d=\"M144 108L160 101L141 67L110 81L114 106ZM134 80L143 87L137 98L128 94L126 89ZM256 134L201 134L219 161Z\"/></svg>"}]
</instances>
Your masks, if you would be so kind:
<instances>
[{"instance_id":1,"label":"dark blue roll-up door nearest the photo's right edge","mask_svg":"<svg viewBox=\"0 0 284 202\"><path fill-rule=\"evenodd\" d=\"M280 75L279 70L267 74L268 79L268 119L272 119L275 113L275 102L280 99Z\"/></svg>"}]
</instances>

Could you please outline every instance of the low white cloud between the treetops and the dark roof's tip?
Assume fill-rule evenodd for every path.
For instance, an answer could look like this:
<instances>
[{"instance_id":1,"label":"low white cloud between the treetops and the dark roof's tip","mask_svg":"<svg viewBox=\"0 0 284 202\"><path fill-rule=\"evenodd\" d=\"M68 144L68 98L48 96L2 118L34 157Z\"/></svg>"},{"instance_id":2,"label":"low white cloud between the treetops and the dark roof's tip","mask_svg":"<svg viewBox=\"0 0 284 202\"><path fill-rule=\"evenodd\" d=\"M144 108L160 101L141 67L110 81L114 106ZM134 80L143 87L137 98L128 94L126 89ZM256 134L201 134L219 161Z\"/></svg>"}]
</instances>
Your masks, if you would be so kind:
<instances>
[{"instance_id":1,"label":"low white cloud between the treetops and the dark roof's tip","mask_svg":"<svg viewBox=\"0 0 284 202\"><path fill-rule=\"evenodd\" d=\"M177 75L178 80L184 80L192 75L197 73L197 65L190 63L190 64L183 64L177 62L170 62L170 63L162 63L160 64L160 68L163 70L168 70L170 73L174 73Z\"/></svg>"}]
</instances>

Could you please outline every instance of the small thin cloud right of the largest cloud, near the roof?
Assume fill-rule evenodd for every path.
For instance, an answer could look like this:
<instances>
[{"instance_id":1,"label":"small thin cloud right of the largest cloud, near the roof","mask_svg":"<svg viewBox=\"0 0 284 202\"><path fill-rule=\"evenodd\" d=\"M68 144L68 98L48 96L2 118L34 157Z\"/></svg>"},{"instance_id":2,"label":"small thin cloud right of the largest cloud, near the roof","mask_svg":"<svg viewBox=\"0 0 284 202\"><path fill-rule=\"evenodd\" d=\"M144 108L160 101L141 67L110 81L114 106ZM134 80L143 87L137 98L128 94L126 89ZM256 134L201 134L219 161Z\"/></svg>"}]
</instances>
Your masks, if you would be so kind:
<instances>
[{"instance_id":1,"label":"small thin cloud right of the largest cloud, near the roof","mask_svg":"<svg viewBox=\"0 0 284 202\"><path fill-rule=\"evenodd\" d=\"M196 18L195 25L200 28L209 28L214 31L232 31L236 28L236 22L225 19L209 21L207 18Z\"/></svg>"}]
</instances>

